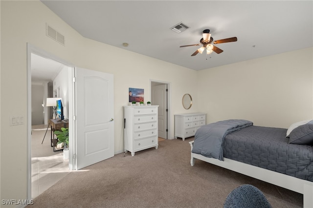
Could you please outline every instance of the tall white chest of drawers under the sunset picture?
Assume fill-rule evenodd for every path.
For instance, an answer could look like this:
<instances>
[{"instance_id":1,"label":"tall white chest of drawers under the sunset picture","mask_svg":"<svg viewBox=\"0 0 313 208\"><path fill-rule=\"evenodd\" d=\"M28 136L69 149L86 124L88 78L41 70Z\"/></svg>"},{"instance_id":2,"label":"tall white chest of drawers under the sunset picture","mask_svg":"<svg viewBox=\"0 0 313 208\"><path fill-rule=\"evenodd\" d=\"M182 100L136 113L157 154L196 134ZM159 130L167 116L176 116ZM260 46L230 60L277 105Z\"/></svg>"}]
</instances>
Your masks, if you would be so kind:
<instances>
[{"instance_id":1,"label":"tall white chest of drawers under the sunset picture","mask_svg":"<svg viewBox=\"0 0 313 208\"><path fill-rule=\"evenodd\" d=\"M124 152L135 152L158 147L158 105L124 106Z\"/></svg>"}]
</instances>

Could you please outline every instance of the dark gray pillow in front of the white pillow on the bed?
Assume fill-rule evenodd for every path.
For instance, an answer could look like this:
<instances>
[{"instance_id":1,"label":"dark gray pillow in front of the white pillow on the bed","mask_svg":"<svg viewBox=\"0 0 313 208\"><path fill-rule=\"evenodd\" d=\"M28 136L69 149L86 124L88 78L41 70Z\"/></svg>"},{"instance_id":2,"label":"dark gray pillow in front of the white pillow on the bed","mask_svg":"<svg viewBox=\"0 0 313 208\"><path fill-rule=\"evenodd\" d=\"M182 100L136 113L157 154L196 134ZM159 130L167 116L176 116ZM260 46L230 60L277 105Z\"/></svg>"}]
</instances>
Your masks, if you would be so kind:
<instances>
[{"instance_id":1,"label":"dark gray pillow in front of the white pillow on the bed","mask_svg":"<svg viewBox=\"0 0 313 208\"><path fill-rule=\"evenodd\" d=\"M313 121L299 125L290 132L289 144L312 145L313 144Z\"/></svg>"}]
</instances>

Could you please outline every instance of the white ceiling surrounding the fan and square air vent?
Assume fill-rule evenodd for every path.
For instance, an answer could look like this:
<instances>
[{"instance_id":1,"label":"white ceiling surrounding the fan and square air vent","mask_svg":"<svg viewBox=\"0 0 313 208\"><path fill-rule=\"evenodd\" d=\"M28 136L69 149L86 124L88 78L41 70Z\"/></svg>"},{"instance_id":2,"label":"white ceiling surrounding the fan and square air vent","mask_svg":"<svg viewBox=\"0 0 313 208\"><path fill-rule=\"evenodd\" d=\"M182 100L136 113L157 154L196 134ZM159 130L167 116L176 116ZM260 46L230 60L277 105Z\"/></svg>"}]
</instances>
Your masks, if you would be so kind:
<instances>
[{"instance_id":1,"label":"white ceiling surrounding the fan and square air vent","mask_svg":"<svg viewBox=\"0 0 313 208\"><path fill-rule=\"evenodd\" d=\"M86 38L194 70L313 46L312 0L42 2ZM179 22L190 28L179 34L172 31ZM199 43L204 29L210 29L214 40L237 37L238 41L215 44L224 50L221 54L193 57L200 46L179 47ZM123 42L129 46L123 47Z\"/></svg>"}]
</instances>

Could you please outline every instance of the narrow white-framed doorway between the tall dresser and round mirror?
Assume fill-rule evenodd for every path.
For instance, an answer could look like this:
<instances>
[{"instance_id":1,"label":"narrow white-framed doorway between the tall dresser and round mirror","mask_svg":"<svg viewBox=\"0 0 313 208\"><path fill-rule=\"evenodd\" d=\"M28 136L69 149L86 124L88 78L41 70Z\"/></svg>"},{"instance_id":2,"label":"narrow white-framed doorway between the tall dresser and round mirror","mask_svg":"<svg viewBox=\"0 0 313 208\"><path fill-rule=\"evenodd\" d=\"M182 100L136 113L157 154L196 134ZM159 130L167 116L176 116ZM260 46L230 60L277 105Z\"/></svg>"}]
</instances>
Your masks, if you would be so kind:
<instances>
[{"instance_id":1,"label":"narrow white-framed doorway between the tall dresser and round mirror","mask_svg":"<svg viewBox=\"0 0 313 208\"><path fill-rule=\"evenodd\" d=\"M169 137L169 88L170 83L150 81L151 102L158 105L158 137Z\"/></svg>"}]
</instances>

